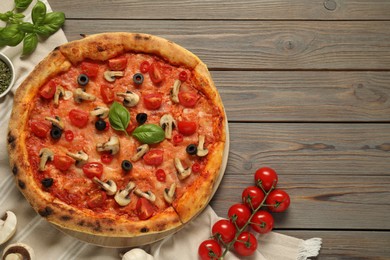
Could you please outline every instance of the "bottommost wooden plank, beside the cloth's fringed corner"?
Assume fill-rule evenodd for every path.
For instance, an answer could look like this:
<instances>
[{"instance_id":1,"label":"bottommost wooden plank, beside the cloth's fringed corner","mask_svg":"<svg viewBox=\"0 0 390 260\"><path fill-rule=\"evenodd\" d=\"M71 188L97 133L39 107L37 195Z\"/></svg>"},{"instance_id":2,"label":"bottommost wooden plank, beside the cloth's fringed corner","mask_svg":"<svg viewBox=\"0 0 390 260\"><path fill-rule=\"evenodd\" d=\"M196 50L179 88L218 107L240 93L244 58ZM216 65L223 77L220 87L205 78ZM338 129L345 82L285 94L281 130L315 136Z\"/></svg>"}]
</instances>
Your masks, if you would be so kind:
<instances>
[{"instance_id":1,"label":"bottommost wooden plank, beside the cloth's fringed corner","mask_svg":"<svg viewBox=\"0 0 390 260\"><path fill-rule=\"evenodd\" d=\"M390 232L372 231L280 231L302 239L322 238L316 260L388 260Z\"/></svg>"}]
</instances>

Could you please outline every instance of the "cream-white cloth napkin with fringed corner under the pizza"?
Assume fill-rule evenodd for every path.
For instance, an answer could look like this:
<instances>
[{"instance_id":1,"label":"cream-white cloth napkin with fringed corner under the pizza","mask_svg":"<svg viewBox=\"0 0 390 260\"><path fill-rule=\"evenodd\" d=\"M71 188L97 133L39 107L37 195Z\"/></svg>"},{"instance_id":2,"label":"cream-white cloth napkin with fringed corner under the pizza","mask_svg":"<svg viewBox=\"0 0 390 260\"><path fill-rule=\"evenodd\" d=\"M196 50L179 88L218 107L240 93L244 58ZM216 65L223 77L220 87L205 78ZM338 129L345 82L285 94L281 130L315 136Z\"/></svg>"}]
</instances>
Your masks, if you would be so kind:
<instances>
[{"instance_id":1,"label":"cream-white cloth napkin with fringed corner under the pizza","mask_svg":"<svg viewBox=\"0 0 390 260\"><path fill-rule=\"evenodd\" d=\"M51 11L47 1L42 1L47 5L48 12ZM13 0L2 0L1 2L0 12L11 10L14 6ZM35 3L36 0L24 12L26 20L31 20L31 9ZM11 210L18 218L16 234L10 241L0 246L0 253L8 244L22 242L34 249L37 259L120 259L120 255L129 249L103 248L76 240L58 231L37 215L16 188L8 163L6 139L15 90L40 60L56 46L66 42L64 32L59 30L45 41L39 42L35 52L27 58L20 57L22 53L21 44L17 47L0 49L0 52L12 60L16 69L16 82L11 93L0 99L0 217L5 211ZM162 241L146 246L144 249L157 260L196 260L198 259L198 245L210 236L211 226L217 220L218 216L215 212L211 207L207 207L196 220L186 225L181 231ZM320 245L321 239L315 238L304 241L272 232L268 235L259 236L258 252L246 259L304 260L307 257L316 256ZM234 260L238 258L229 253L226 259Z\"/></svg>"}]
</instances>

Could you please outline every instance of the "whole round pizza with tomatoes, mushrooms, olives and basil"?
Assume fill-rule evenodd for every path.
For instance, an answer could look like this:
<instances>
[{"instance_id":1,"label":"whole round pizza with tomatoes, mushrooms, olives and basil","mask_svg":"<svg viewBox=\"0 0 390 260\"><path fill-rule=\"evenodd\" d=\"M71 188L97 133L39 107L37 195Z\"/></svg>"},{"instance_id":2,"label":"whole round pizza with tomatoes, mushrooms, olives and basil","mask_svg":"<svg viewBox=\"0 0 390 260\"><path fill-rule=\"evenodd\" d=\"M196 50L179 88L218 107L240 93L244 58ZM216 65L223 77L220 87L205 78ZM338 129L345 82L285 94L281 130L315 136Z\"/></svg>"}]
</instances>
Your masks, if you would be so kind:
<instances>
[{"instance_id":1,"label":"whole round pizza with tomatoes, mushrooms, olives and basil","mask_svg":"<svg viewBox=\"0 0 390 260\"><path fill-rule=\"evenodd\" d=\"M226 117L206 65L148 34L57 47L17 89L8 151L49 222L103 237L175 230L210 200Z\"/></svg>"}]
</instances>

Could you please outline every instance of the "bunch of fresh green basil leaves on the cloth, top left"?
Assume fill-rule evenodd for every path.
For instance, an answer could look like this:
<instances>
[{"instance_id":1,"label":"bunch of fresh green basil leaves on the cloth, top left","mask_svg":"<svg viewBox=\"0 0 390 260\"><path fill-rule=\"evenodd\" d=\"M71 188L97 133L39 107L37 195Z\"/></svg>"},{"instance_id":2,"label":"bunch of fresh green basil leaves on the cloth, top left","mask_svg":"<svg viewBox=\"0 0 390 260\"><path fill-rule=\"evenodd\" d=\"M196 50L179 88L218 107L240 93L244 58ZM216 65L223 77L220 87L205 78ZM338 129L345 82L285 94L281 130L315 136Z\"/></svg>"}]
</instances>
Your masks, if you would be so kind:
<instances>
[{"instance_id":1,"label":"bunch of fresh green basil leaves on the cloth, top left","mask_svg":"<svg viewBox=\"0 0 390 260\"><path fill-rule=\"evenodd\" d=\"M0 20L6 22L0 27L0 47L16 46L23 41L22 55L31 54L38 45L39 37L49 37L58 31L65 22L63 12L47 13L46 5L38 1L31 11L32 23L24 22L22 13L32 0L14 0L15 8L0 13Z\"/></svg>"}]
</instances>

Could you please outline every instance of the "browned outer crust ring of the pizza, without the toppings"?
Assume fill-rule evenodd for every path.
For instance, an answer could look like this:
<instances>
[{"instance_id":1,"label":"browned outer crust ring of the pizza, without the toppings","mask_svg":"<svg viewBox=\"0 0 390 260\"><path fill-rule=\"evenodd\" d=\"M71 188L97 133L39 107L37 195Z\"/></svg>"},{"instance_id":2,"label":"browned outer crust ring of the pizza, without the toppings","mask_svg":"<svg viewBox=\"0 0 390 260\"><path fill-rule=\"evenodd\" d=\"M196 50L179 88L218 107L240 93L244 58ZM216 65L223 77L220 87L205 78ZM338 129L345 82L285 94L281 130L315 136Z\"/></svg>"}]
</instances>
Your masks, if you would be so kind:
<instances>
[{"instance_id":1,"label":"browned outer crust ring of the pizza, without the toppings","mask_svg":"<svg viewBox=\"0 0 390 260\"><path fill-rule=\"evenodd\" d=\"M207 174L203 174L188 192L178 198L164 212L145 221L128 221L115 215L88 215L56 199L34 180L26 148L28 117L32 100L40 86L50 78L68 71L74 64L84 60L104 61L122 53L133 51L153 54L176 66L193 69L197 87L213 103L221 115L213 122L219 140L210 147ZM49 222L69 232L81 232L97 237L142 237L153 234L169 234L194 218L206 207L222 163L226 120L219 93L206 65L194 54L160 37L147 34L105 33L64 44L52 51L40 62L15 93L8 133L8 151L12 172L18 188L32 207ZM194 196L196 194L196 196ZM160 236L157 236L160 237ZM120 243L117 241L117 243ZM114 246L114 245L113 245Z\"/></svg>"}]
</instances>

